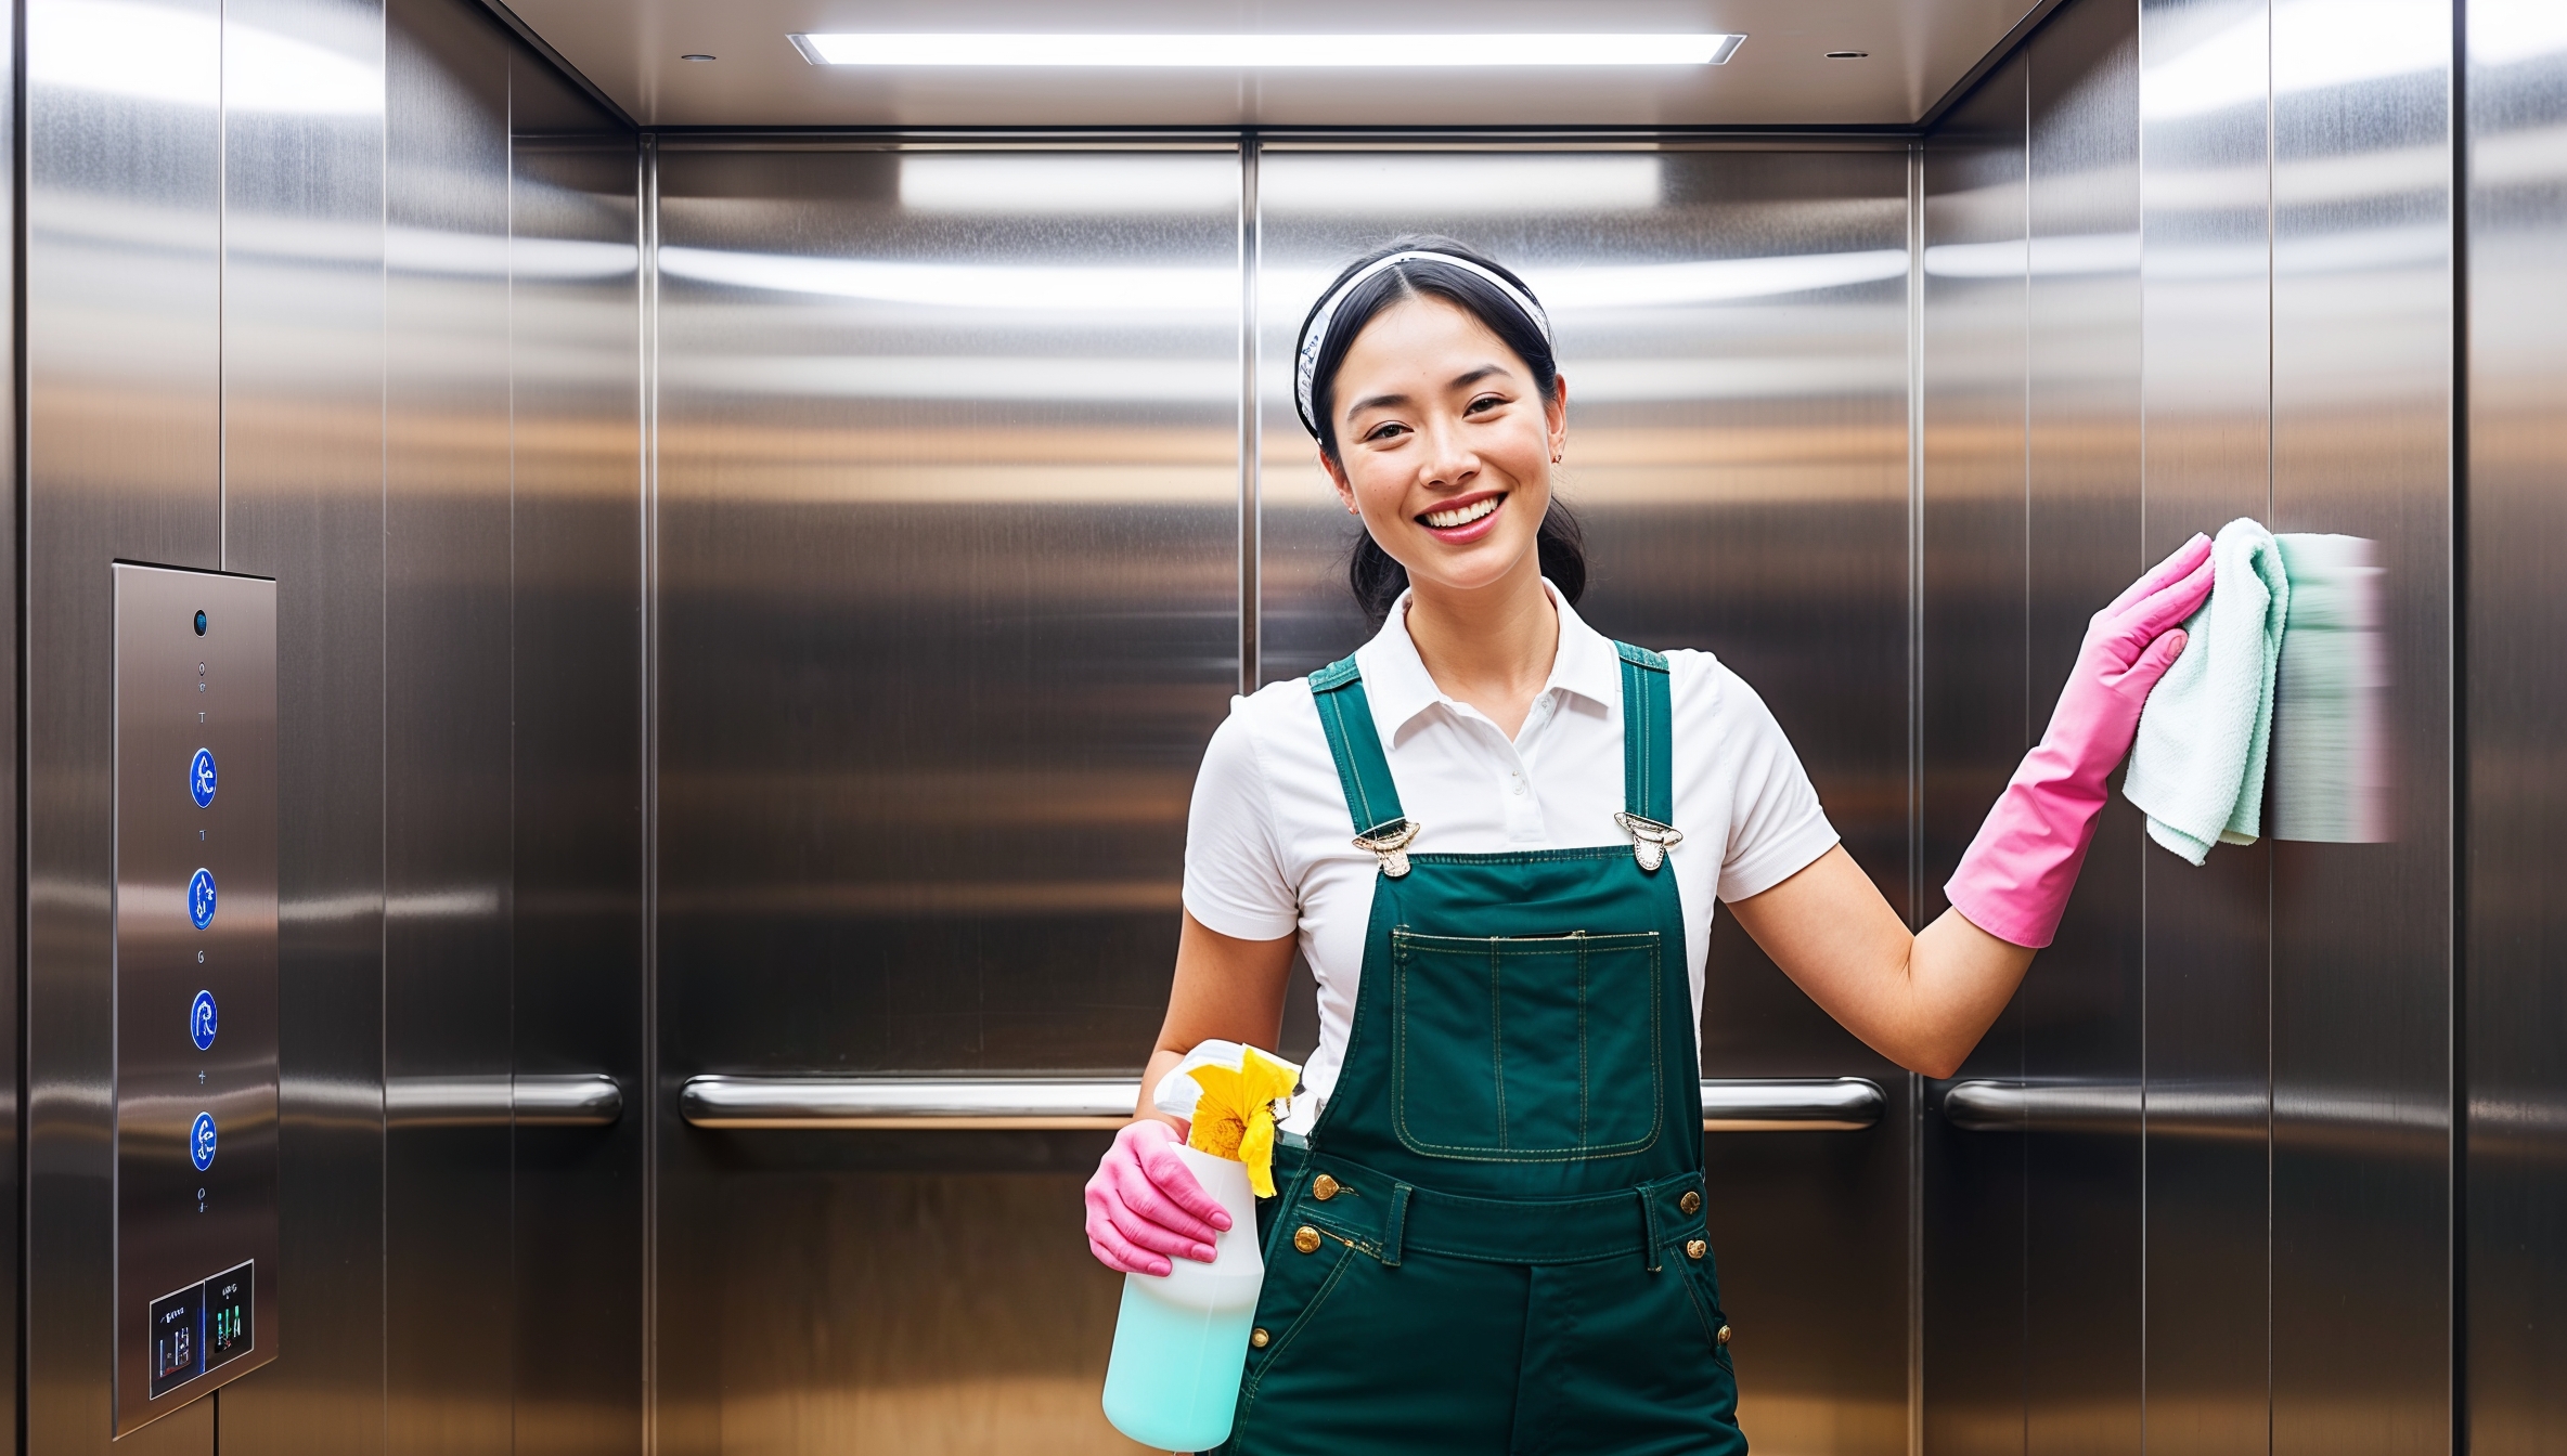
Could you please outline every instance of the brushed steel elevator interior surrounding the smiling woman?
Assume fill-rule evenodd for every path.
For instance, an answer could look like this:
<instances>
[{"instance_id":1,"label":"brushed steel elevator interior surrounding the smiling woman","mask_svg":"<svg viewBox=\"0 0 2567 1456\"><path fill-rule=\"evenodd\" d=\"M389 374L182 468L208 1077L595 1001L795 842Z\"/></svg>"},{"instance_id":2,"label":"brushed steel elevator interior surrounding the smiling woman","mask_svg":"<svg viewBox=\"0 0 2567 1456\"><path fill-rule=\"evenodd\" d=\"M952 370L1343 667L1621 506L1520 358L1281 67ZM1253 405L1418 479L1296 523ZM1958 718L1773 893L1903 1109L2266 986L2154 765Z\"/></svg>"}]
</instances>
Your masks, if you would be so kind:
<instances>
[{"instance_id":1,"label":"brushed steel elevator interior surrounding the smiling woman","mask_svg":"<svg viewBox=\"0 0 2567 1456\"><path fill-rule=\"evenodd\" d=\"M2377 551L2369 843L2192 869L2115 800L1948 1082L1715 931L1756 1448L2567 1430L2546 0L1743 0L1699 85L1520 87L13 15L23 1451L1129 1448L1078 1184L1206 736L1361 641L1289 349L1402 231L1558 320L1589 620L1722 654L1918 923L2141 567ZM277 672L275 1333L123 1435L116 561L272 579Z\"/></svg>"}]
</instances>

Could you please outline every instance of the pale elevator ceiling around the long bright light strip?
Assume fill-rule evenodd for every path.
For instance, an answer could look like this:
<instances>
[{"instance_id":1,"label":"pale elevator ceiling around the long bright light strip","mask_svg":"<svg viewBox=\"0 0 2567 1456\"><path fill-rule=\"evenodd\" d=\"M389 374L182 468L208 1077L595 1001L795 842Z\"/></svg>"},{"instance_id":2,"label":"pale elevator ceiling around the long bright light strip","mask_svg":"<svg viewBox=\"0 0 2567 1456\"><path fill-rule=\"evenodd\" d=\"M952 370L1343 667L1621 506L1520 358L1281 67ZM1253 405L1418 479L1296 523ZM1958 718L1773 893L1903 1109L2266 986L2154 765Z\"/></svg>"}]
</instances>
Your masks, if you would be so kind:
<instances>
[{"instance_id":1,"label":"pale elevator ceiling around the long bright light strip","mask_svg":"<svg viewBox=\"0 0 2567 1456\"><path fill-rule=\"evenodd\" d=\"M642 126L1907 126L2036 0L511 0ZM857 69L796 31L1735 31L1720 67ZM1864 51L1830 59L1828 51ZM714 56L688 62L685 56Z\"/></svg>"}]
</instances>

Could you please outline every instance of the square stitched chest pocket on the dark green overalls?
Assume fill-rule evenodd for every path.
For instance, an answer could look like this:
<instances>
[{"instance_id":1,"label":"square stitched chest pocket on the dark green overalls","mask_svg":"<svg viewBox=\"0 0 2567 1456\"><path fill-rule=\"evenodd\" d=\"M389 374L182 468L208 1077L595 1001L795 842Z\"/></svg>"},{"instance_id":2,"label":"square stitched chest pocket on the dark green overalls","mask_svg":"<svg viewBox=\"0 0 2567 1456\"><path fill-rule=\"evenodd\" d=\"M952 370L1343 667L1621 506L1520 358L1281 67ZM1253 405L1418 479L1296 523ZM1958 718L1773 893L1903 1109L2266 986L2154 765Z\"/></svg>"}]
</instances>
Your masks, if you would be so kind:
<instances>
[{"instance_id":1,"label":"square stitched chest pocket on the dark green overalls","mask_svg":"<svg viewBox=\"0 0 2567 1456\"><path fill-rule=\"evenodd\" d=\"M1656 931L1391 931L1391 1118L1422 1156L1568 1161L1658 1141Z\"/></svg>"}]
</instances>

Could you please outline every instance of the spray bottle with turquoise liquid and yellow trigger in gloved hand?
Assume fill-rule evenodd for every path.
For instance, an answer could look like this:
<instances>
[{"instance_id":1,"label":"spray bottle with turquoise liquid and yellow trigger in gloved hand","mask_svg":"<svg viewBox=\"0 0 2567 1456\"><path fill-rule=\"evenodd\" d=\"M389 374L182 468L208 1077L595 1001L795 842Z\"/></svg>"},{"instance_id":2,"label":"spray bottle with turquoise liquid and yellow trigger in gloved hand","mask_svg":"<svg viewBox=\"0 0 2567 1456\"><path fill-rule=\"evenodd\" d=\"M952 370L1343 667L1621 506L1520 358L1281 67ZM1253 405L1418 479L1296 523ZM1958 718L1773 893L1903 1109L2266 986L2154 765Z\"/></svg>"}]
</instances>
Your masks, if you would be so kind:
<instances>
[{"instance_id":1,"label":"spray bottle with turquoise liquid and yellow trigger in gloved hand","mask_svg":"<svg viewBox=\"0 0 2567 1456\"><path fill-rule=\"evenodd\" d=\"M1171 1259L1165 1274L1124 1274L1106 1420L1142 1446L1209 1451L1230 1441L1248 1328L1266 1284L1255 1200L1276 1192L1276 1105L1299 1079L1291 1061L1206 1041L1150 1097L1160 1113L1189 1120L1176 1156L1222 1202L1230 1228L1214 1241L1212 1264Z\"/></svg>"}]
</instances>

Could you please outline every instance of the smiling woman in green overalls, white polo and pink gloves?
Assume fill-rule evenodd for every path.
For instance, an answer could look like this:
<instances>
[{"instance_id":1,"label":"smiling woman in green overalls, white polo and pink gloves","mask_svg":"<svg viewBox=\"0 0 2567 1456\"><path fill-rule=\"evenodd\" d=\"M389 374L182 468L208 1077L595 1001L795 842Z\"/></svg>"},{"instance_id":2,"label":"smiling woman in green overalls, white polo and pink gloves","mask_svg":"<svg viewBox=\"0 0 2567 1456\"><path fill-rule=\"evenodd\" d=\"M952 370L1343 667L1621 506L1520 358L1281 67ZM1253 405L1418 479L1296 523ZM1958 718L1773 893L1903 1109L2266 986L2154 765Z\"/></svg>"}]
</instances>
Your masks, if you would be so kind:
<instances>
[{"instance_id":1,"label":"smiling woman in green overalls, white polo and pink gloves","mask_svg":"<svg viewBox=\"0 0 2567 1456\"><path fill-rule=\"evenodd\" d=\"M1091 1248L1212 1259L1227 1215L1147 1087L1206 1038L1273 1046L1299 948L1319 1051L1258 1210L1230 1451L1746 1451L1694 1130L1712 900L1848 1030L1948 1077L2059 923L2210 541L2095 615L1953 907L1910 936L1746 682L1579 620L1550 500L1568 385L1522 279L1404 238L1330 285L1296 359L1381 631L1237 700L1204 754L1176 987L1088 1182Z\"/></svg>"}]
</instances>

